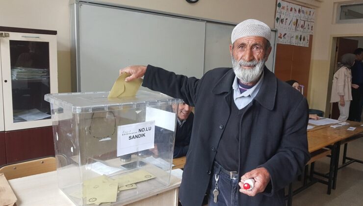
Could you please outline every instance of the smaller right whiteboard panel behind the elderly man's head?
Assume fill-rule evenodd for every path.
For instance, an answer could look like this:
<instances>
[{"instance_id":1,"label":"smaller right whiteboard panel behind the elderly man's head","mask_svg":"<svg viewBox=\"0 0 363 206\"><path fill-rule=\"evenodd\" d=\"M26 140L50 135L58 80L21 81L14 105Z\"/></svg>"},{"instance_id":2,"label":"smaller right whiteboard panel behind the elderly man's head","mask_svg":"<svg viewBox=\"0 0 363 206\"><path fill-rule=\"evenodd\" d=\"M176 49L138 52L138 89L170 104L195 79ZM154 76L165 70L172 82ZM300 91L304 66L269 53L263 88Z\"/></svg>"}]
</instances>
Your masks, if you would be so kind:
<instances>
[{"instance_id":1,"label":"smaller right whiteboard panel behind the elderly man's head","mask_svg":"<svg viewBox=\"0 0 363 206\"><path fill-rule=\"evenodd\" d=\"M217 67L232 67L230 54L231 34L235 25L206 23L206 45L204 56L204 73ZM265 63L266 67L275 71L276 30L271 29L270 39L272 51Z\"/></svg>"}]
</instances>

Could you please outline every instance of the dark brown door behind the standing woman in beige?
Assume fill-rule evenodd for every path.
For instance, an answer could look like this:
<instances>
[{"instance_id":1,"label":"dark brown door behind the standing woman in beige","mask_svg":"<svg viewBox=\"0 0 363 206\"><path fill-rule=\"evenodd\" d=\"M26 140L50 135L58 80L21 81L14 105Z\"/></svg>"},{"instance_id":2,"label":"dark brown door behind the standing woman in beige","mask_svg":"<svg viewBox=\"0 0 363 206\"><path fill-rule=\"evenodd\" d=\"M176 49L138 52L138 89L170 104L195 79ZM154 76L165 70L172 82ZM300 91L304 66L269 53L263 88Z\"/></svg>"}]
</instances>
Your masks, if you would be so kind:
<instances>
[{"instance_id":1,"label":"dark brown door behind the standing woman in beige","mask_svg":"<svg viewBox=\"0 0 363 206\"><path fill-rule=\"evenodd\" d=\"M342 55L346 53L353 53L355 49L358 48L358 40L353 39L346 39L346 38L338 38L337 39L337 51L336 51L336 60L335 63L337 65L337 62L340 61L340 58ZM337 68L334 69L334 73L337 71ZM333 79L330 79L333 81ZM331 92L331 91L328 91ZM338 103L332 103L332 113L331 117L332 119L338 119L339 118L339 108Z\"/></svg>"}]
</instances>

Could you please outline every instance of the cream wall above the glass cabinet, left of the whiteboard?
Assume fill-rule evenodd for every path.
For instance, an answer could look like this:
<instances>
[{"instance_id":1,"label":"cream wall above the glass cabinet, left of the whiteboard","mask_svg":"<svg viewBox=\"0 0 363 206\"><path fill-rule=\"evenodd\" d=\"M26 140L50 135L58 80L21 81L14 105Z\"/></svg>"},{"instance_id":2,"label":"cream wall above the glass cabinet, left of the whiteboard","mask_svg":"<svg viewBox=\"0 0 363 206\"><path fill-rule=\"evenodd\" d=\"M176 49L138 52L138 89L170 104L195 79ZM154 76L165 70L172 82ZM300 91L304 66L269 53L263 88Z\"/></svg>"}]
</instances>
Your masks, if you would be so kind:
<instances>
[{"instance_id":1,"label":"cream wall above the glass cabinet, left of the whiteboard","mask_svg":"<svg viewBox=\"0 0 363 206\"><path fill-rule=\"evenodd\" d=\"M0 26L56 30L58 90L71 91L68 0L0 0Z\"/></svg>"}]
</instances>

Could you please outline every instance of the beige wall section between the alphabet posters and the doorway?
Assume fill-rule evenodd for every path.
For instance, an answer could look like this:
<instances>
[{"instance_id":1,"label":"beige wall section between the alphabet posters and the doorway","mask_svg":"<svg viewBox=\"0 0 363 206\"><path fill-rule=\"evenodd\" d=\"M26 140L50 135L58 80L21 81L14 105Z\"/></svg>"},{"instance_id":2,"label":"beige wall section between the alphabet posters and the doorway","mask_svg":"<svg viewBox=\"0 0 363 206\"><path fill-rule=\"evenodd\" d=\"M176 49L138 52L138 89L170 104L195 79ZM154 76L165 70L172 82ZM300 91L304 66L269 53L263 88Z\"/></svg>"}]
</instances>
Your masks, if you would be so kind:
<instances>
[{"instance_id":1,"label":"beige wall section between the alphabet posters and the doorway","mask_svg":"<svg viewBox=\"0 0 363 206\"><path fill-rule=\"evenodd\" d=\"M309 80L309 106L329 113L329 76L331 75L331 58L333 38L341 36L363 36L363 23L336 24L334 3L351 0L324 0L317 9L315 31L312 42L311 67ZM329 95L328 95L329 94Z\"/></svg>"}]
</instances>

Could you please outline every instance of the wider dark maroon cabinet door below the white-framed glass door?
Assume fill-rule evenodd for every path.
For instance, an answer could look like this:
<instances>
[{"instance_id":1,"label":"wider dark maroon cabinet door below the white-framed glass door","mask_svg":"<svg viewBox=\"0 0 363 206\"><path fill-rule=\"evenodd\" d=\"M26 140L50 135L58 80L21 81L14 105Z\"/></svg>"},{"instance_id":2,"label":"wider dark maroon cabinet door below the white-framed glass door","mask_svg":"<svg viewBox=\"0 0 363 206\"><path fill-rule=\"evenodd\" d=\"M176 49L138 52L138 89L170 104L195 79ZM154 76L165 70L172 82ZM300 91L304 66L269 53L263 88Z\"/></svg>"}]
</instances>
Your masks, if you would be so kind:
<instances>
[{"instance_id":1,"label":"wider dark maroon cabinet door below the white-framed glass door","mask_svg":"<svg viewBox=\"0 0 363 206\"><path fill-rule=\"evenodd\" d=\"M5 131L6 162L54 156L52 127Z\"/></svg>"}]
</instances>

